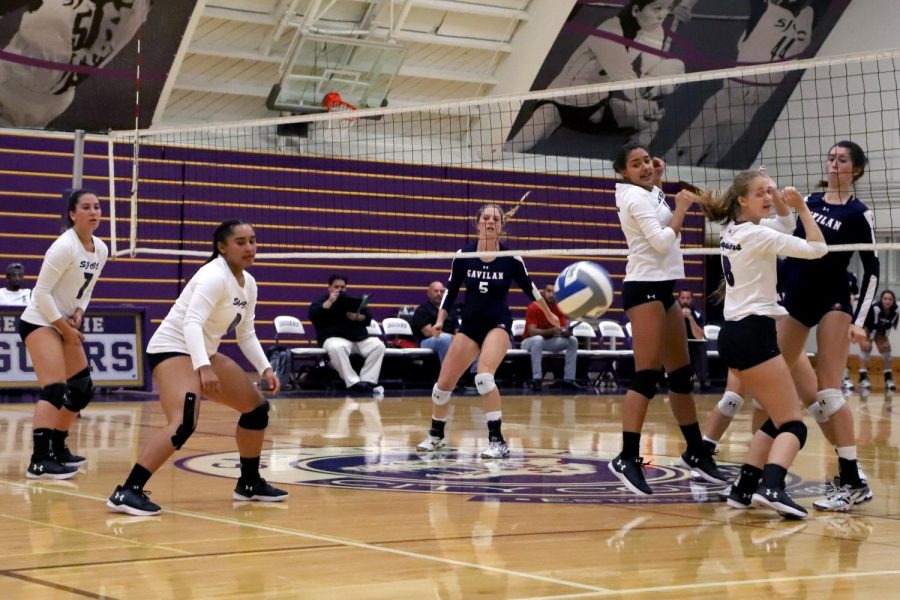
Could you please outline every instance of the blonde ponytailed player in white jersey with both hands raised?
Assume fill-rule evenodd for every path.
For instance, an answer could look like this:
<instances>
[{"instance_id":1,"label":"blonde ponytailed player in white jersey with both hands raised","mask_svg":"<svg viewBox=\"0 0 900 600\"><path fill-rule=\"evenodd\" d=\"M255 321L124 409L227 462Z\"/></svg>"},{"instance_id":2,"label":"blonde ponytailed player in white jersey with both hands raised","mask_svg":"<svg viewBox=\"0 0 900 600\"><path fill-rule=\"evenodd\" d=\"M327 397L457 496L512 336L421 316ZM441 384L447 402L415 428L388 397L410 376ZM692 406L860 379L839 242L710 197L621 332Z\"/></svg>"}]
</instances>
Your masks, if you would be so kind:
<instances>
[{"instance_id":1,"label":"blonde ponytailed player in white jersey with both hands raised","mask_svg":"<svg viewBox=\"0 0 900 600\"><path fill-rule=\"evenodd\" d=\"M698 203L710 219L725 226L719 244L725 276L719 356L769 413L769 420L753 436L728 503L736 508L764 506L785 517L804 518L806 509L784 489L787 470L807 432L799 396L789 383L791 372L778 349L775 319L787 311L778 304L777 258L815 259L828 248L797 190L785 188L783 195L805 226L806 239L764 224L774 201L770 180L759 171L739 173L724 194L702 193Z\"/></svg>"}]
</instances>

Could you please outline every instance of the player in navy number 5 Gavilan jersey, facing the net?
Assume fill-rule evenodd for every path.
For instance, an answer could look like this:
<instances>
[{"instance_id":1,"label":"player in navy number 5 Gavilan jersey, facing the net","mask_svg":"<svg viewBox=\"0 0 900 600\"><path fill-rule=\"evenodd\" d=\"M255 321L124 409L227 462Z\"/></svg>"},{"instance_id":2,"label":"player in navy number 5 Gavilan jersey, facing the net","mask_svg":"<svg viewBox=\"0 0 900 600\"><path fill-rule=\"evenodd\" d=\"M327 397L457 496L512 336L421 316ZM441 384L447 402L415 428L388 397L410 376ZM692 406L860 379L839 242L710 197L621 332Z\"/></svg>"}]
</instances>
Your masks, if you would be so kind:
<instances>
[{"instance_id":1,"label":"player in navy number 5 Gavilan jersey, facing the net","mask_svg":"<svg viewBox=\"0 0 900 600\"><path fill-rule=\"evenodd\" d=\"M500 243L506 216L499 206L488 204L478 211L476 227L478 241L460 252L496 252L506 250ZM532 283L525 263L518 256L489 258L458 257L450 268L450 281L438 310L438 318L432 326L433 335L440 335L447 318L447 308L453 306L459 288L465 286L466 299L460 315L461 325L447 350L437 383L431 392L432 418L428 437L417 449L435 452L446 447L444 426L449 412L448 403L457 381L478 357L478 373L475 387L481 395L482 408L488 428L489 446L482 458L504 458L509 448L500 430L500 392L494 383L494 373L510 347L512 315L507 296L510 286L516 283L533 299L554 327L559 319L547 306L541 293Z\"/></svg>"}]
</instances>

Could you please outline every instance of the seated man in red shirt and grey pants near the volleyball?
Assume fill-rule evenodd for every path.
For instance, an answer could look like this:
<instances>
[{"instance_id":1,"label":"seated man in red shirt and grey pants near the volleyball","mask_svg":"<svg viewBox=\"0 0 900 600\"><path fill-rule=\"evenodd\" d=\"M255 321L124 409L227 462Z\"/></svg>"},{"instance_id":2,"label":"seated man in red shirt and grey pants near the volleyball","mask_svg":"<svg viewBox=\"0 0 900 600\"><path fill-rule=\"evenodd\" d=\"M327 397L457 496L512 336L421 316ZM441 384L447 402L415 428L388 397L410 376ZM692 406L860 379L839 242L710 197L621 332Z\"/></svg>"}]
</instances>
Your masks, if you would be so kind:
<instances>
[{"instance_id":1,"label":"seated man in red shirt and grey pants near the volleyball","mask_svg":"<svg viewBox=\"0 0 900 600\"><path fill-rule=\"evenodd\" d=\"M541 390L541 382L544 380L543 353L547 351L566 353L563 380L559 384L568 389L581 389L581 386L575 381L578 340L572 336L571 329L567 327L566 316L556 304L553 285L545 285L544 289L541 290L541 295L553 314L559 317L560 326L553 327L550 324L537 302L532 302L528 305L528 310L525 312L525 333L523 334L522 348L528 350L531 354L531 387L536 392Z\"/></svg>"}]
</instances>

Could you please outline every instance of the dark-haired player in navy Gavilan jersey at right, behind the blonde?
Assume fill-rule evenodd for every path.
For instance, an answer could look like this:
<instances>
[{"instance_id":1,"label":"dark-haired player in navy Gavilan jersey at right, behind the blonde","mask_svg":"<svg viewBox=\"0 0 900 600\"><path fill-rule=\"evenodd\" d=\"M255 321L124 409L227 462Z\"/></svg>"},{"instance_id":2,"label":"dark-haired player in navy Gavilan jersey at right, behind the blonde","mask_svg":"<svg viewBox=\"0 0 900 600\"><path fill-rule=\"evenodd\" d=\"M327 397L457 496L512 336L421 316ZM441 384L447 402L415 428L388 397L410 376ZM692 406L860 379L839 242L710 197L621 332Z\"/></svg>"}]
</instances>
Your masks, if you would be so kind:
<instances>
[{"instance_id":1,"label":"dark-haired player in navy Gavilan jersey at right, behind the blonde","mask_svg":"<svg viewBox=\"0 0 900 600\"><path fill-rule=\"evenodd\" d=\"M872 212L853 193L854 183L865 173L863 149L851 141L840 141L825 160L824 192L811 194L809 207L829 245L874 243ZM794 235L803 237L803 224ZM788 316L778 322L778 344L791 367L800 398L838 455L838 484L813 505L820 510L846 511L872 499L872 492L859 469L853 413L841 392L841 377L847 364L849 341L865 340L865 311L878 287L878 255L859 253L863 266L860 297L850 306L847 266L851 252L830 252L813 261L788 258L782 269L783 306ZM806 356L806 338L816 327L816 368Z\"/></svg>"}]
</instances>

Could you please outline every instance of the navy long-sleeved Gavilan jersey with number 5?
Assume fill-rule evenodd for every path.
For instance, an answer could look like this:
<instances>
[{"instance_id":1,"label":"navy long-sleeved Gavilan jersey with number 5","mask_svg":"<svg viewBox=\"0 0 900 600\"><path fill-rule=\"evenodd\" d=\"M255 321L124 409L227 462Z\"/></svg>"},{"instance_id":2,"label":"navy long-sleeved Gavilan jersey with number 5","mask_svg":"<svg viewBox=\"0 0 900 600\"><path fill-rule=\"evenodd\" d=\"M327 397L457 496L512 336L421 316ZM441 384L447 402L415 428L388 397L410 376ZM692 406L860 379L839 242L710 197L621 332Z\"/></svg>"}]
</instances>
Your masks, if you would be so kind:
<instances>
[{"instance_id":1,"label":"navy long-sleeved Gavilan jersey with number 5","mask_svg":"<svg viewBox=\"0 0 900 600\"><path fill-rule=\"evenodd\" d=\"M477 249L476 243L466 246L460 252L476 252ZM504 245L500 245L500 250L506 249ZM459 288L465 285L466 300L461 315L464 323L509 323L512 315L506 298L514 281L531 299L541 298L519 256L498 256L490 262L484 262L478 257L454 258L441 308L448 310L452 307Z\"/></svg>"}]
</instances>

